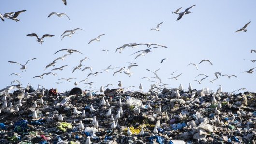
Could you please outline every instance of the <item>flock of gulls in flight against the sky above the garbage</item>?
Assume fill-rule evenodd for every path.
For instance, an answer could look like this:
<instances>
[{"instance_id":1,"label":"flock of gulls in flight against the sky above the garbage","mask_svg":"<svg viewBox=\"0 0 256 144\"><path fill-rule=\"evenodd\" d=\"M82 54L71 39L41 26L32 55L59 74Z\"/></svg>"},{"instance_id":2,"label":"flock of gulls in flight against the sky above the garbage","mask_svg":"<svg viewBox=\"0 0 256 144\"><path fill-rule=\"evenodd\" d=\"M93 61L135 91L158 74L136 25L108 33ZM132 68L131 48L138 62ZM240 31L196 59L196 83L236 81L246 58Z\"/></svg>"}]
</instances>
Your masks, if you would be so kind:
<instances>
[{"instance_id":1,"label":"flock of gulls in flight against the sky above the garbage","mask_svg":"<svg viewBox=\"0 0 256 144\"><path fill-rule=\"evenodd\" d=\"M67 4L66 0L62 0L62 1L63 1L63 3L64 3L65 5ZM179 9L177 9L176 11L173 11L172 13L173 13L173 14L178 14L178 18L177 18L177 21L178 21L178 20L180 20L182 17L184 17L185 15L192 13L192 12L189 11L189 10L190 10L191 8L195 7L195 6L196 6L196 5L192 5L191 7L185 9L184 12L180 12L181 8L179 8ZM1 17L2 21L5 21L5 18L8 18L8 19L11 19L11 20L14 20L14 21L18 22L18 21L20 21L20 20L18 19L18 16L19 16L21 13L23 13L23 12L26 12L26 10L17 11L17 12L15 12L15 13L14 13L14 12L8 12L8 13L5 13L5 14L0 14L0 17ZM53 16L53 15L57 15L58 17L66 16L66 17L70 20L70 18L69 18L65 13L51 12L51 13L48 15L48 17L51 17L51 16ZM251 22L251 21L250 21L250 22ZM248 23L245 24L242 28L240 28L239 30L237 30L237 31L235 31L235 32L240 32L240 31L246 32L246 31L247 31L247 27L248 27L248 25L250 24L250 22L248 22ZM160 31L160 26L161 26L161 24L163 24L163 22L157 24L156 28L152 28L152 29L150 29L150 30ZM76 31L78 31L78 30L84 31L84 30L81 29L81 28L75 28L75 29L72 29L72 30L66 30L66 31L64 31L64 32L62 33L62 35L61 35L61 36L62 36L62 39L61 39L61 40L63 40L63 38L65 38L65 37L67 37L67 36L68 36L68 37L71 37L71 36L72 36L73 34L75 34ZM96 38L91 39L91 40L88 42L88 44L91 44L91 43L94 42L94 41L100 42L100 38L101 38L102 36L104 36L104 35L105 35L105 34L100 34L100 35L97 36ZM37 42L38 42L39 44L42 44L42 43L44 42L44 41L43 41L44 38L46 38L46 37L53 37L53 36L55 36L55 35L52 35L52 34L44 34L41 38L39 38L36 33L31 33L31 34L27 34L27 36L30 36L30 37L35 36ZM139 50L139 51L137 51L137 52L135 52L135 53L132 53L131 55L136 55L136 56L134 57L134 59L137 59L138 57L145 56L147 53L152 52L154 49L168 48L167 46L164 46L164 45L161 45L161 44L157 44L157 43L127 43L127 44L123 44L121 47L116 48L115 52L119 51L119 53L122 53L123 50L126 49L126 48L137 48L137 47L140 46L140 45L146 46L147 48L146 48L146 49L143 49L143 50ZM109 51L109 50L107 50L107 49L101 49L101 50L102 50L102 51L106 51L106 52ZM83 55L82 52L80 52L80 51L78 51L78 50L75 50L75 49L60 49L60 50L58 50L57 52L55 52L54 55L57 54L57 53L60 53L60 52L62 52L62 51L66 51L68 54L64 54L63 56L58 57L58 58L56 58L55 60L53 60L52 62L50 62L48 65L45 66L45 69L44 69L44 70L48 69L49 67L55 67L55 64L57 63L57 61L60 61L60 60L64 61L64 60L66 60L66 58L67 58L67 57L71 57L73 53L79 53L79 54ZM252 50L251 50L251 53L252 53L252 52L255 52L255 53L256 53L256 50L253 50L253 49L252 49ZM37 59L37 58L32 58L32 59L28 60L24 65L21 64L21 63L19 63L19 62L14 62L14 61L8 61L8 62L9 62L9 63L16 63L16 64L19 64L19 65L21 66L20 69L21 69L22 72L23 72L23 71L26 71L28 62L30 62L31 60L36 60L36 59ZM89 59L88 57L85 57L85 58L81 59L80 62L79 62L79 64L78 64L77 66L74 66L74 67L73 67L72 73L75 72L75 71L78 71L78 70L81 70L81 71L90 70L90 71L92 72L92 71L93 71L92 66L85 66L85 65L84 65L83 61L86 61L86 60L90 60L90 59ZM168 60L168 58L162 59L162 60L160 61L160 63L163 63L165 60ZM247 59L244 59L244 60L247 60ZM247 61L255 62L256 60L247 60ZM199 62L199 64L201 64L201 63L203 63L203 62L207 62L207 63L209 63L210 65L213 65L213 63L212 63L210 60L207 60L207 59L201 60L201 61ZM90 78L90 76L97 76L97 75L99 75L100 73L109 72L110 70L113 70L113 71L114 71L114 70L116 70L116 69L117 69L117 71L114 71L113 76L116 75L117 73L124 73L124 74L127 74L128 76L132 76L133 72L131 72L131 69L135 69L135 68L133 68L133 67L137 67L138 64L137 64L137 63L134 63L134 62L127 62L127 63L129 64L129 66L128 66L127 68L126 68L126 67L112 67L112 65L109 65L106 69L102 69L102 71L97 71L97 72L89 73L85 79L80 80L79 82L76 82L76 81L75 81L74 84L77 86L79 83L85 82L85 84L89 84L89 85L90 85L89 88L94 88L93 86L91 86L94 82L88 82L88 79ZM55 67L55 68L53 68L53 69L50 70L51 72L46 72L46 73L43 73L43 74L34 76L34 77L32 77L32 78L41 78L41 79L43 79L43 77L44 77L44 76L47 76L47 75L56 76L57 73L54 73L54 71L56 71L56 72L57 72L57 71L62 71L62 70L65 69L65 67L67 67L67 66L68 66L68 64L64 64L64 65L62 65L62 66L60 66L60 67L57 67L57 68ZM196 63L189 63L187 66L194 66L197 70L199 70L198 64L196 64ZM254 67L254 68L251 68L251 69L248 70L248 71L243 71L243 73L250 73L250 74L252 74L252 73L255 71L254 69L255 69L255 67ZM147 70L148 70L148 69L147 69ZM158 70L159 70L159 69L158 69ZM161 78L160 78L160 77L158 76L158 74L156 73L158 70L156 70L156 71L148 70L148 71L151 71L155 76L152 76L152 77L142 77L142 79L147 78L149 82L154 82L154 83L155 83L155 84L152 84L152 85L158 87L158 89L161 89L161 88L162 88L161 86L166 86L166 85L168 85L168 84L165 84L165 83L162 82ZM176 72L176 71L175 71L175 72ZM170 73L173 77L171 77L171 78L169 78L169 79L178 80L178 77L180 77L180 76L182 75L182 73L179 73L179 74L177 74L177 75L174 75L175 72ZM214 78L214 79L209 79L209 76L207 76L206 74L203 74L203 73L202 73L202 74L197 75L195 78L197 78L197 77L199 77L199 76L204 76L203 78L200 78L199 80L194 79L193 81L196 81L196 82L198 82L199 84L202 84L202 82L205 81L205 80L208 80L209 82L214 83L214 81L216 81L216 80L218 80L218 79L220 78L219 76L223 76L223 77L224 77L224 76L227 76L229 79L230 79L230 78L233 78L233 77L234 77L234 78L237 78L237 76L234 75L234 74L228 75L228 74L222 74L221 72L215 72L214 74L215 74L215 76L216 76L216 78ZM19 73L12 73L12 74L10 74L10 76L12 76L12 75L16 75L16 76L21 77L21 75L20 75ZM59 78L59 79L57 79L57 80L66 80L66 81L70 82L71 79L77 79L77 78L76 78L76 77L71 77L71 78ZM155 80L152 80L152 79L155 79ZM13 81L11 82L11 84L14 85L15 82L18 83L18 84L20 84L20 82L19 82L18 80L13 80ZM63 83L63 82L62 82L62 81L59 81L59 82L55 82L55 83L56 83L56 84L60 84L60 83ZM17 85L17 84L16 84L16 85ZM108 85L109 85L109 84L108 84ZM111 84L111 85L113 85L113 84ZM154 86L153 86L153 87L154 87ZM107 86L105 86L105 87L107 87ZM134 86L130 86L130 87L134 87ZM142 84L140 84L140 87L142 87ZM140 88L140 89L141 89L141 88Z\"/></svg>"}]
</instances>

